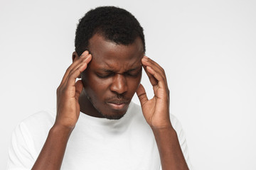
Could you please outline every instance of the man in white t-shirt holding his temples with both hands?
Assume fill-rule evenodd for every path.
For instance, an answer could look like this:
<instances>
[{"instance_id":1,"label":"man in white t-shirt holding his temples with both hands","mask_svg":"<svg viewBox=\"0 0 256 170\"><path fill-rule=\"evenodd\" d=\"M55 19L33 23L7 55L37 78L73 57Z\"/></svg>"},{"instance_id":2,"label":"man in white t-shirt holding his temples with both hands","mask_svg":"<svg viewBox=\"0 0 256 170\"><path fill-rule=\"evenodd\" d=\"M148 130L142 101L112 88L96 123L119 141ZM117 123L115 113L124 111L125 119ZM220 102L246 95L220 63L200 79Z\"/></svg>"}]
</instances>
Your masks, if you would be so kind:
<instances>
[{"instance_id":1,"label":"man in white t-shirt holding his temples with both hands","mask_svg":"<svg viewBox=\"0 0 256 170\"><path fill-rule=\"evenodd\" d=\"M164 69L145 49L143 29L128 11L87 12L57 90L57 110L16 128L9 169L188 169L181 125L170 120ZM154 89L150 100L140 84L142 68ZM131 102L135 92L141 106Z\"/></svg>"}]
</instances>

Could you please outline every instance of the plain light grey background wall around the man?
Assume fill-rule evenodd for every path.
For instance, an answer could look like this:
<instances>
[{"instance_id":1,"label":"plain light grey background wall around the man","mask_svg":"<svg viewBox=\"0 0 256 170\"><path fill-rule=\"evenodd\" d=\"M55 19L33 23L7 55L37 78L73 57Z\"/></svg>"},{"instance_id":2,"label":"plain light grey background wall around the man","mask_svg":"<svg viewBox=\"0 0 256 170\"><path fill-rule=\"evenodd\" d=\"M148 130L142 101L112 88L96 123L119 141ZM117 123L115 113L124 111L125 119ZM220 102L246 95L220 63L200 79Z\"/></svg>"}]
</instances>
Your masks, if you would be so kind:
<instances>
[{"instance_id":1,"label":"plain light grey background wall around the man","mask_svg":"<svg viewBox=\"0 0 256 170\"><path fill-rule=\"evenodd\" d=\"M103 5L126 8L144 27L146 55L166 71L194 169L256 169L256 2L248 0L1 0L0 169L15 126L55 108L78 19ZM152 96L146 77L142 84Z\"/></svg>"}]
</instances>

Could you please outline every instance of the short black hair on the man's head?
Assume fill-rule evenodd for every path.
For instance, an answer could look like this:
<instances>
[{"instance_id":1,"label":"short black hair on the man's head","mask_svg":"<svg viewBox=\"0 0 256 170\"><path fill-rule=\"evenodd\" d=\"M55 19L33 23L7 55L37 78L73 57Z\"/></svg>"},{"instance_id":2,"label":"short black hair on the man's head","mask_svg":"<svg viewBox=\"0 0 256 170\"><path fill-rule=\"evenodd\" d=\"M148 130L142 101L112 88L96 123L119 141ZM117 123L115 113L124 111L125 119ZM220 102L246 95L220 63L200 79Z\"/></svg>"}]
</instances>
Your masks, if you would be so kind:
<instances>
[{"instance_id":1,"label":"short black hair on the man's head","mask_svg":"<svg viewBox=\"0 0 256 170\"><path fill-rule=\"evenodd\" d=\"M146 51L142 26L132 13L123 8L100 6L80 18L75 32L75 52L79 56L87 50L90 38L96 33L121 45L130 45L139 37L142 39L144 52Z\"/></svg>"}]
</instances>

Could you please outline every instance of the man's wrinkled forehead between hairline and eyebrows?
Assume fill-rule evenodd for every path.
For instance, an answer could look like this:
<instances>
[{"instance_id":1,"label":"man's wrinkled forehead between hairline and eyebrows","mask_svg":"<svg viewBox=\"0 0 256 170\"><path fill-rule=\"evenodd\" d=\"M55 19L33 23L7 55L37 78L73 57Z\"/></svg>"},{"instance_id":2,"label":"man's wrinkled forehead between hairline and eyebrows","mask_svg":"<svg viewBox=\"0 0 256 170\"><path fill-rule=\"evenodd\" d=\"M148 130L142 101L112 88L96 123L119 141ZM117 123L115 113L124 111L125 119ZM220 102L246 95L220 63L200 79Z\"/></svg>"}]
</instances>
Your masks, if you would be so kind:
<instances>
[{"instance_id":1,"label":"man's wrinkled forehead between hairline and eyebrows","mask_svg":"<svg viewBox=\"0 0 256 170\"><path fill-rule=\"evenodd\" d=\"M144 56L142 40L138 37L131 45L118 45L95 34L89 40L88 49L92 54L91 69L110 69L125 72L142 66Z\"/></svg>"}]
</instances>

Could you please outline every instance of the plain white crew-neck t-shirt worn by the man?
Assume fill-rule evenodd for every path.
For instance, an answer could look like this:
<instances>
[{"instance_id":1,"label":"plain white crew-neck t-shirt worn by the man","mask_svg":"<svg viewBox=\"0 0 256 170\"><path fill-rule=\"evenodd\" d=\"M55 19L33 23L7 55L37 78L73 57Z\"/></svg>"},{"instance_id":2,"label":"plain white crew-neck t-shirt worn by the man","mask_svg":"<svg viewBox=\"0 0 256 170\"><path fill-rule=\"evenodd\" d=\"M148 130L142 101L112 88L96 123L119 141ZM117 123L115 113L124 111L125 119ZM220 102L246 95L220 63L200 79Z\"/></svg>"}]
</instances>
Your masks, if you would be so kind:
<instances>
[{"instance_id":1,"label":"plain white crew-neck t-shirt worn by the man","mask_svg":"<svg viewBox=\"0 0 256 170\"><path fill-rule=\"evenodd\" d=\"M16 127L11 137L7 169L32 168L55 122L55 113L41 111ZM171 123L190 166L181 124L174 115L171 115ZM141 107L131 103L127 113L119 120L80 113L68 140L61 169L161 169L154 134L144 119Z\"/></svg>"}]
</instances>

